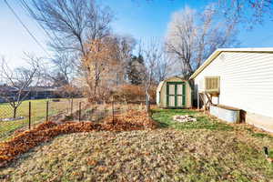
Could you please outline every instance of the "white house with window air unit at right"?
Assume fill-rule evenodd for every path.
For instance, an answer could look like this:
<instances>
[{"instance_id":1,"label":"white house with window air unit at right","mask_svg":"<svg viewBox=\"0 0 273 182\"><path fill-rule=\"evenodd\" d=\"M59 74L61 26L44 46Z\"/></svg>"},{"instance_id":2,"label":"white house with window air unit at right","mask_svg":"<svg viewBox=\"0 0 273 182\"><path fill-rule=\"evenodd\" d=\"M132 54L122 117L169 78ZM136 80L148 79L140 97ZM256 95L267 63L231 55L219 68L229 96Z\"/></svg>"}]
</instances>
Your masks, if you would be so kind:
<instances>
[{"instance_id":1,"label":"white house with window air unit at right","mask_svg":"<svg viewBox=\"0 0 273 182\"><path fill-rule=\"evenodd\" d=\"M217 49L190 79L198 103L242 109L247 123L273 132L273 48Z\"/></svg>"}]
</instances>

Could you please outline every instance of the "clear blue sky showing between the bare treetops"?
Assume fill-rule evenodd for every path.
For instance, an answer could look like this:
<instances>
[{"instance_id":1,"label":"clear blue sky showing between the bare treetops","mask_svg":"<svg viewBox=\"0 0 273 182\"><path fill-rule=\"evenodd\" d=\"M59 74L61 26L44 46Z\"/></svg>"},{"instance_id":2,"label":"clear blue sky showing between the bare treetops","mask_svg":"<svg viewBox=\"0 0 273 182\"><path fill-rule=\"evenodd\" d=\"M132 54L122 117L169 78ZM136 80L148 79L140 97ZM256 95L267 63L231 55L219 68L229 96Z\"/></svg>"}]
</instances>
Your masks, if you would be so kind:
<instances>
[{"instance_id":1,"label":"clear blue sky showing between the bare treetops","mask_svg":"<svg viewBox=\"0 0 273 182\"><path fill-rule=\"evenodd\" d=\"M17 1L9 0L9 2L39 42L47 48L45 44L47 36L43 30L26 14ZM152 2L104 0L101 2L109 5L116 14L116 21L113 23L114 32L145 39L150 36L166 35L167 24L175 11L182 9L185 5L200 10L209 3L209 0L154 0ZM238 39L241 47L273 47L273 22L266 21L264 25L257 25L252 31L241 28L239 32ZM5 56L10 66L20 66L25 63L23 52L46 56L15 19L5 3L0 1L0 56Z\"/></svg>"}]
</instances>

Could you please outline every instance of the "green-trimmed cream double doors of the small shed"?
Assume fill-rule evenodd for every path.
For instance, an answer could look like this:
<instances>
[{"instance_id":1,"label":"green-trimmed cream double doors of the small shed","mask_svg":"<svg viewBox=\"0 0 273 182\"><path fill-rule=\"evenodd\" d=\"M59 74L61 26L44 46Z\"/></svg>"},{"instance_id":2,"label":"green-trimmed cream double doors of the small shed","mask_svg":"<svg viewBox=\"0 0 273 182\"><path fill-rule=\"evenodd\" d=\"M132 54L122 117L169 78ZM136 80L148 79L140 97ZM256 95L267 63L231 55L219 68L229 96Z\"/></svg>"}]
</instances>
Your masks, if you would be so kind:
<instances>
[{"instance_id":1,"label":"green-trimmed cream double doors of the small shed","mask_svg":"<svg viewBox=\"0 0 273 182\"><path fill-rule=\"evenodd\" d=\"M184 82L167 82L167 106L184 107L186 105L186 85Z\"/></svg>"}]
</instances>

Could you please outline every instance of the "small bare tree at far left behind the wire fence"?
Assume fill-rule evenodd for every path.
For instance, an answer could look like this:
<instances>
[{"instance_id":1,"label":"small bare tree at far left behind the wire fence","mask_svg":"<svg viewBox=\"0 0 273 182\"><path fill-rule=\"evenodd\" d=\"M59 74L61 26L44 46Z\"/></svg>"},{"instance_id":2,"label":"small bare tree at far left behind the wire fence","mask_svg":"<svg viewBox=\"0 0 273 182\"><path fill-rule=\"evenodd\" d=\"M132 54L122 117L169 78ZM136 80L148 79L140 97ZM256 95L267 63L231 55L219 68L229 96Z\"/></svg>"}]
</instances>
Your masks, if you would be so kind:
<instances>
[{"instance_id":1,"label":"small bare tree at far left behind the wire fence","mask_svg":"<svg viewBox=\"0 0 273 182\"><path fill-rule=\"evenodd\" d=\"M13 117L17 109L39 82L40 59L29 56L29 67L11 69L2 57L0 72L3 74L4 85L0 86L0 97L13 108Z\"/></svg>"}]
</instances>

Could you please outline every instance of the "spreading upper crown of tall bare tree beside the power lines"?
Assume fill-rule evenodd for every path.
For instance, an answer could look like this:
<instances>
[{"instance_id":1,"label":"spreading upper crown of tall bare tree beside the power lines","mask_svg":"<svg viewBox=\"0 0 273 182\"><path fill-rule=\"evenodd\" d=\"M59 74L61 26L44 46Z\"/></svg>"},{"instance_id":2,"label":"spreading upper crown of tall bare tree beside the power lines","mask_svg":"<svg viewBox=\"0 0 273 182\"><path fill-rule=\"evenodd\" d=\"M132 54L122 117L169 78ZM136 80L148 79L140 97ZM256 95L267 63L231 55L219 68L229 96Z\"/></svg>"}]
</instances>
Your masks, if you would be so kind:
<instances>
[{"instance_id":1,"label":"spreading upper crown of tall bare tree beside the power lines","mask_svg":"<svg viewBox=\"0 0 273 182\"><path fill-rule=\"evenodd\" d=\"M113 14L95 0L20 1L52 37L56 50L69 50L86 56L85 44L110 33Z\"/></svg>"}]
</instances>

